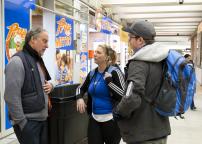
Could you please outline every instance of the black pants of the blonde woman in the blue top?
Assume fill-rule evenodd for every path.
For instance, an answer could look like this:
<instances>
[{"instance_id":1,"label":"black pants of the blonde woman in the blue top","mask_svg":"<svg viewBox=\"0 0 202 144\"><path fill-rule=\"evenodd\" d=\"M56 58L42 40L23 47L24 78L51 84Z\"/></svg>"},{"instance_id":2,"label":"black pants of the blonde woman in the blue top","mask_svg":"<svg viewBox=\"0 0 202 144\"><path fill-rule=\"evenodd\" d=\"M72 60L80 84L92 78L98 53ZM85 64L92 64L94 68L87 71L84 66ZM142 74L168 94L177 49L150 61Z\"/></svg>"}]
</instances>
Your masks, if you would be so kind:
<instances>
[{"instance_id":1,"label":"black pants of the blonde woman in the blue top","mask_svg":"<svg viewBox=\"0 0 202 144\"><path fill-rule=\"evenodd\" d=\"M90 117L88 124L88 144L119 144L120 130L114 120L97 122Z\"/></svg>"}]
</instances>

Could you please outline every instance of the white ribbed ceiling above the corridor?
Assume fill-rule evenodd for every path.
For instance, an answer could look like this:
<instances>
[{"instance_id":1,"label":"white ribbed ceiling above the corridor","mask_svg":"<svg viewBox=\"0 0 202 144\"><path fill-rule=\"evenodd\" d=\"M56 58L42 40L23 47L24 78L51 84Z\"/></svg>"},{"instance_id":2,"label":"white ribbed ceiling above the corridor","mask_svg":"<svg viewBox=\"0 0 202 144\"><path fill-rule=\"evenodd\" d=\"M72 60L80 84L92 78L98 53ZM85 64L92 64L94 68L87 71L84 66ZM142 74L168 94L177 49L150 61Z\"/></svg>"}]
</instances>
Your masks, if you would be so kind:
<instances>
[{"instance_id":1,"label":"white ribbed ceiling above the corridor","mask_svg":"<svg viewBox=\"0 0 202 144\"><path fill-rule=\"evenodd\" d=\"M202 0L100 0L105 9L124 23L148 20L157 36L170 40L190 38L202 21ZM182 1L182 4L179 4ZM169 39L167 39L169 41ZM183 41L183 40L182 40Z\"/></svg>"}]
</instances>

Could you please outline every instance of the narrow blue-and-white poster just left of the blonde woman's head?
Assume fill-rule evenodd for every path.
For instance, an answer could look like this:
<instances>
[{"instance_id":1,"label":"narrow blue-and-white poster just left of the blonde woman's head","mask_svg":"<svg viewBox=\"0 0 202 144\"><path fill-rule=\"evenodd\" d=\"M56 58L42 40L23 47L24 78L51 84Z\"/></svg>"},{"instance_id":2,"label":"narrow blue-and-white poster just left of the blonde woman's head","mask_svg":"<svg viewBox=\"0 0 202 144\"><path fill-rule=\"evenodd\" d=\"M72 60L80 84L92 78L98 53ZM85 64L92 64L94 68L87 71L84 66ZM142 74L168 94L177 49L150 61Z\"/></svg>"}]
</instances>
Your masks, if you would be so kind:
<instances>
[{"instance_id":1,"label":"narrow blue-and-white poster just left of the blonde woman's head","mask_svg":"<svg viewBox=\"0 0 202 144\"><path fill-rule=\"evenodd\" d=\"M88 74L88 52L80 53L80 77L81 82L86 78Z\"/></svg>"}]
</instances>

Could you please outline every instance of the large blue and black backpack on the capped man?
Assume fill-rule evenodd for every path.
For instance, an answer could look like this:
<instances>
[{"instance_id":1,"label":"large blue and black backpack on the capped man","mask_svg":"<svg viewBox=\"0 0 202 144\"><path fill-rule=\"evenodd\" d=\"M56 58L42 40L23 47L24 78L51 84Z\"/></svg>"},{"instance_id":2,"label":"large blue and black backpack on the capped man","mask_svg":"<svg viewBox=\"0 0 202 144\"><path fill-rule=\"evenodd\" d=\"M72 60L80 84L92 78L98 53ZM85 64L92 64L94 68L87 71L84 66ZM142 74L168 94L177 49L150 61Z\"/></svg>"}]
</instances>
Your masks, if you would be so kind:
<instances>
[{"instance_id":1,"label":"large blue and black backpack on the capped man","mask_svg":"<svg viewBox=\"0 0 202 144\"><path fill-rule=\"evenodd\" d=\"M170 50L163 65L163 78L154 100L155 110L163 116L181 116L190 107L196 89L193 64Z\"/></svg>"}]
</instances>

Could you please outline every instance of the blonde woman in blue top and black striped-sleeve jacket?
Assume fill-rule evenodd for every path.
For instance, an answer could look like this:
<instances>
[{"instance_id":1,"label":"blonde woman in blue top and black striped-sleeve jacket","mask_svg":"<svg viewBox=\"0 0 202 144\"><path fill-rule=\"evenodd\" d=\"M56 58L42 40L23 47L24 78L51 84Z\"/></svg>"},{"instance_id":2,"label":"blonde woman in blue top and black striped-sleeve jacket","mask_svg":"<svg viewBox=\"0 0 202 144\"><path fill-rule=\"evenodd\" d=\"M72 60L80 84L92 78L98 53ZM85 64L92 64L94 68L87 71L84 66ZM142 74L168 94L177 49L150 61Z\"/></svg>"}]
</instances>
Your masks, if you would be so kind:
<instances>
[{"instance_id":1,"label":"blonde woman in blue top and black striped-sleeve jacket","mask_svg":"<svg viewBox=\"0 0 202 144\"><path fill-rule=\"evenodd\" d=\"M84 113L87 108L89 114L88 144L119 144L120 130L113 120L112 109L124 94L124 77L117 69L108 72L109 49L106 45L99 45L95 50L94 61L98 67L88 73L80 86L77 96L77 111ZM83 100L88 93L87 105Z\"/></svg>"}]
</instances>

